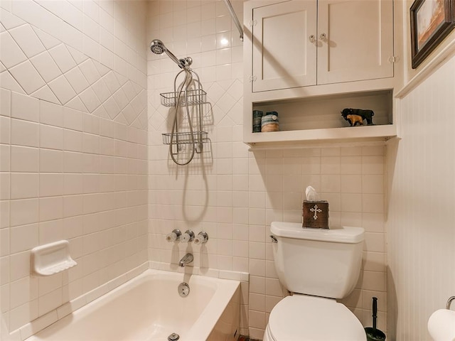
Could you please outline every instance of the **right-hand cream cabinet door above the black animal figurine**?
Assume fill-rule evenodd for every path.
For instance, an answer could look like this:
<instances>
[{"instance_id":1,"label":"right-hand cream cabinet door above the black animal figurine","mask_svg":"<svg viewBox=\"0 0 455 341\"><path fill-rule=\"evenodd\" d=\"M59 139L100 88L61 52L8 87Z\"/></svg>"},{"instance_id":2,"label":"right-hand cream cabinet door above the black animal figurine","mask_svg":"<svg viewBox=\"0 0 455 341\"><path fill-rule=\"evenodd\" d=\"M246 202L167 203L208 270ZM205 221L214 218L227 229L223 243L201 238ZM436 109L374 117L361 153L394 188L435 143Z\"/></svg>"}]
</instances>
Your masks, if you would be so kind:
<instances>
[{"instance_id":1,"label":"right-hand cream cabinet door above the black animal figurine","mask_svg":"<svg viewBox=\"0 0 455 341\"><path fill-rule=\"evenodd\" d=\"M318 11L318 84L393 77L392 0L320 0Z\"/></svg>"}]
</instances>

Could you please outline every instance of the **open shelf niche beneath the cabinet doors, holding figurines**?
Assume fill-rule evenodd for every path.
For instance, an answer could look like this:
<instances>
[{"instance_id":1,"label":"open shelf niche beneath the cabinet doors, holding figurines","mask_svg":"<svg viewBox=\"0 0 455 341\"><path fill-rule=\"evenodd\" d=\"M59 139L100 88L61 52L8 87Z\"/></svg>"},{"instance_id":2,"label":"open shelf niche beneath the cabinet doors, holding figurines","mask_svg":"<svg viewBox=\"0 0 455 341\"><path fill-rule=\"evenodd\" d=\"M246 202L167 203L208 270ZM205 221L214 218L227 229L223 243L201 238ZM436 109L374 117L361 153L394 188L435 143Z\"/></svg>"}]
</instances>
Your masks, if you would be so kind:
<instances>
[{"instance_id":1,"label":"open shelf niche beneath the cabinet doors, holding figurines","mask_svg":"<svg viewBox=\"0 0 455 341\"><path fill-rule=\"evenodd\" d=\"M364 126L349 126L341 116L344 108L373 110L375 125L366 126L364 121ZM247 134L245 143L251 146L286 141L385 141L396 136L392 90L253 102L252 110L278 112L280 131Z\"/></svg>"}]
</instances>

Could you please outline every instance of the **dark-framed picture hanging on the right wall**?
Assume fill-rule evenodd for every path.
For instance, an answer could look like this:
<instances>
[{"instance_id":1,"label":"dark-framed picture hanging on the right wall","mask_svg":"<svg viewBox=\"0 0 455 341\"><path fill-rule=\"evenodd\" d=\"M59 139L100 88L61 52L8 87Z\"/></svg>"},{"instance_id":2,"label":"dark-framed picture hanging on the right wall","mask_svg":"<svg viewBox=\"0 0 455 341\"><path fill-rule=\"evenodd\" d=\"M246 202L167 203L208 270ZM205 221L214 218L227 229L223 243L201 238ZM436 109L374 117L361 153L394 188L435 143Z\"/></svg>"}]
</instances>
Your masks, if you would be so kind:
<instances>
[{"instance_id":1,"label":"dark-framed picture hanging on the right wall","mask_svg":"<svg viewBox=\"0 0 455 341\"><path fill-rule=\"evenodd\" d=\"M415 0L410 12L415 69L455 27L455 0Z\"/></svg>"}]
</instances>

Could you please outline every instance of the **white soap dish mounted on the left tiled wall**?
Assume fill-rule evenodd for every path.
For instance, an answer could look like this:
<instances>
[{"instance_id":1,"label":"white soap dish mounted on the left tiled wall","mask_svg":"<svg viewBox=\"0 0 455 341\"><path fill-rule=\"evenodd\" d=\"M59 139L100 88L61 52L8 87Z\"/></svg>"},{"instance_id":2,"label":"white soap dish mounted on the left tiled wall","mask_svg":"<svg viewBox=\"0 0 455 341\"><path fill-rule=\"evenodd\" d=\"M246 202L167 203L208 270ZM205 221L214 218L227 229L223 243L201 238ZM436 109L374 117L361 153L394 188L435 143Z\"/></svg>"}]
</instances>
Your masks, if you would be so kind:
<instances>
[{"instance_id":1,"label":"white soap dish mounted on the left tiled wall","mask_svg":"<svg viewBox=\"0 0 455 341\"><path fill-rule=\"evenodd\" d=\"M31 250L33 272L40 276L58 274L75 266L77 263L70 256L70 243L60 240Z\"/></svg>"}]
</instances>

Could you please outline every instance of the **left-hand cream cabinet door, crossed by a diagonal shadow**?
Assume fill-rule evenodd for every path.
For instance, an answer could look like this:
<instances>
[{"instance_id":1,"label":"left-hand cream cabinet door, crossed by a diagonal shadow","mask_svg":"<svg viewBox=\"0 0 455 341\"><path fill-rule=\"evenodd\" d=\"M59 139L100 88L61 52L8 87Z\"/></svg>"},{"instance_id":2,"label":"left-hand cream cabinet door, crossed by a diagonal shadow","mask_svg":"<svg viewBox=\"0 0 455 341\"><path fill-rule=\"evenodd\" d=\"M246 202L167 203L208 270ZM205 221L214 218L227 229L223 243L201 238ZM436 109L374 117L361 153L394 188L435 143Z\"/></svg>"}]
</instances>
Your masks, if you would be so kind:
<instances>
[{"instance_id":1,"label":"left-hand cream cabinet door, crossed by a diagonal shadow","mask_svg":"<svg viewBox=\"0 0 455 341\"><path fill-rule=\"evenodd\" d=\"M316 0L253 9L252 91L316 84Z\"/></svg>"}]
</instances>

